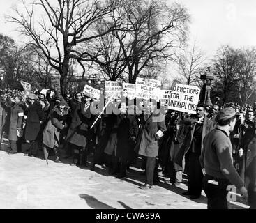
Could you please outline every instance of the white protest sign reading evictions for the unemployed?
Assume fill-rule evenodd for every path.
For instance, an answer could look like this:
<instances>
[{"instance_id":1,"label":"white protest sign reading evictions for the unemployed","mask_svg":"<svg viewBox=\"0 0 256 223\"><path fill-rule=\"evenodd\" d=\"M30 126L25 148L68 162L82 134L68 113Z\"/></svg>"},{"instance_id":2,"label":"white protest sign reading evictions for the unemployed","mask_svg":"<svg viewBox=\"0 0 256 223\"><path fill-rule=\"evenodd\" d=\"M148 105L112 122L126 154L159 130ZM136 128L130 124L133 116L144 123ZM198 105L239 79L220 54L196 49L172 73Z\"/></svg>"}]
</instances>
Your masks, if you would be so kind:
<instances>
[{"instance_id":1,"label":"white protest sign reading evictions for the unemployed","mask_svg":"<svg viewBox=\"0 0 256 223\"><path fill-rule=\"evenodd\" d=\"M197 86L176 84L168 101L168 109L196 114L200 89Z\"/></svg>"}]
</instances>

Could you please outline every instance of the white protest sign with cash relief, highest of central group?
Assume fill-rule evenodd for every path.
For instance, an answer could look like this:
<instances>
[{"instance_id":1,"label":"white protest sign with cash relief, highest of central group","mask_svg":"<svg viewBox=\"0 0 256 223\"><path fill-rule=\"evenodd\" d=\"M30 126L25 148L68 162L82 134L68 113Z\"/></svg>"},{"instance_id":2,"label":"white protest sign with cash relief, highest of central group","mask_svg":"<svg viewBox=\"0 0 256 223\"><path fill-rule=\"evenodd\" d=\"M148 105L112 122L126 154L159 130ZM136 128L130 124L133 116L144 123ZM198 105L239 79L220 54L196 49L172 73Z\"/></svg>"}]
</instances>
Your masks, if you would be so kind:
<instances>
[{"instance_id":1,"label":"white protest sign with cash relief, highest of central group","mask_svg":"<svg viewBox=\"0 0 256 223\"><path fill-rule=\"evenodd\" d=\"M159 101L161 82L156 79L136 79L136 97L149 100Z\"/></svg>"}]
</instances>

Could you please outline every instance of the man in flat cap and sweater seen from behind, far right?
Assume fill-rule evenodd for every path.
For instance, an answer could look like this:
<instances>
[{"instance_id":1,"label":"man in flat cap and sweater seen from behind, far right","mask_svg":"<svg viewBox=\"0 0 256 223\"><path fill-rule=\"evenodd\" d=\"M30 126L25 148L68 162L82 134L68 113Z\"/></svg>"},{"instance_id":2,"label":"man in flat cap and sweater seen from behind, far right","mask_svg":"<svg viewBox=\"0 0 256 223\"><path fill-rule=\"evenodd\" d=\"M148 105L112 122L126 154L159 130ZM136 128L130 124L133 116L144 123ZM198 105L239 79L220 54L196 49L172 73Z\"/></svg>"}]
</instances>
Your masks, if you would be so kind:
<instances>
[{"instance_id":1,"label":"man in flat cap and sweater seen from behind, far right","mask_svg":"<svg viewBox=\"0 0 256 223\"><path fill-rule=\"evenodd\" d=\"M208 209L227 209L227 186L236 186L248 197L242 178L237 173L232 158L230 132L236 124L236 112L228 107L216 116L216 128L204 138L200 162L204 172L203 187L208 199Z\"/></svg>"}]
</instances>

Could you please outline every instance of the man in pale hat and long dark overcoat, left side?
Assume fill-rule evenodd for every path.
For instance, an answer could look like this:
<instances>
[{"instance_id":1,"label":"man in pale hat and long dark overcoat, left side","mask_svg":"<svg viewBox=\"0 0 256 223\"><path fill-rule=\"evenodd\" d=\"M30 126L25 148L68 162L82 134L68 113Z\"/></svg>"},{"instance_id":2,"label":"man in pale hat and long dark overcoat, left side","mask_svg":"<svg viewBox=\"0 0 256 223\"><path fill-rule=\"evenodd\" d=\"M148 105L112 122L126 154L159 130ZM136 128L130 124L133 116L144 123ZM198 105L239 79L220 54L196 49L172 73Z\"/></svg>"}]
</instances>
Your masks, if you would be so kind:
<instances>
[{"instance_id":1,"label":"man in pale hat and long dark overcoat, left side","mask_svg":"<svg viewBox=\"0 0 256 223\"><path fill-rule=\"evenodd\" d=\"M40 131L40 125L43 123L45 113L40 105L40 102L36 100L36 95L30 93L27 96L28 109L27 109L27 123L24 132L24 138L29 141L31 146L29 147L29 155L35 157L38 153L38 144L36 138Z\"/></svg>"}]
</instances>

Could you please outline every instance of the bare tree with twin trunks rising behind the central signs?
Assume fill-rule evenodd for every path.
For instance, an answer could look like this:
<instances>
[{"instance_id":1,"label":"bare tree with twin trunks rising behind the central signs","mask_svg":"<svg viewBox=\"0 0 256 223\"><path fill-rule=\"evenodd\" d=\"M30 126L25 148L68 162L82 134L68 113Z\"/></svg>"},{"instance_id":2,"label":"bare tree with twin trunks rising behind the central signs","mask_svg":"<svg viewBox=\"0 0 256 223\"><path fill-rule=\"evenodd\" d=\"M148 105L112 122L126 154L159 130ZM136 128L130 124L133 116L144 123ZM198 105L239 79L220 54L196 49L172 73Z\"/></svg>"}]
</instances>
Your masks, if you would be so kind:
<instances>
[{"instance_id":1,"label":"bare tree with twin trunks rising behind the central signs","mask_svg":"<svg viewBox=\"0 0 256 223\"><path fill-rule=\"evenodd\" d=\"M177 3L167 6L166 1L121 1L95 31L104 33L108 26L116 29L107 38L95 39L88 46L93 50L80 58L96 63L109 79L127 75L129 82L135 83L144 68L175 59L176 49L186 42L189 20L186 8Z\"/></svg>"}]
</instances>

